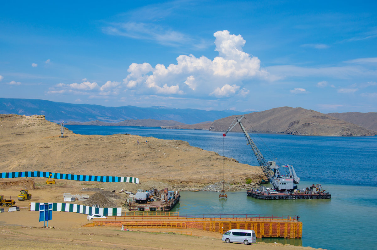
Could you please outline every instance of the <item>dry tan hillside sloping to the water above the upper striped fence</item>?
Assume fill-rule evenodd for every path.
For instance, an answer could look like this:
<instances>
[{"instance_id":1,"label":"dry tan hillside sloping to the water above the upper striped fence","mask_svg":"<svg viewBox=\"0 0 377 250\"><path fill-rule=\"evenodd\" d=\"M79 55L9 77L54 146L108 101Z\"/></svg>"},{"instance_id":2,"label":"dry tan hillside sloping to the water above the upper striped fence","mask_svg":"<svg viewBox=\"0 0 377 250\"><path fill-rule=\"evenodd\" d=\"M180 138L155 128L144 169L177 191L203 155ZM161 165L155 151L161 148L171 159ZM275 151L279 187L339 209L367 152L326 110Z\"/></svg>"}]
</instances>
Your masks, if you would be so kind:
<instances>
[{"instance_id":1,"label":"dry tan hillside sloping to the water above the upper striped fence","mask_svg":"<svg viewBox=\"0 0 377 250\"><path fill-rule=\"evenodd\" d=\"M138 177L142 185L128 184L133 191L153 186L201 189L223 177L240 189L250 187L245 184L248 178L254 183L263 178L260 167L240 164L181 140L130 134L81 135L67 128L67 137L60 138L61 126L44 116L0 115L0 126L0 172L33 170ZM107 185L112 185L109 190L127 188L127 184Z\"/></svg>"}]
</instances>

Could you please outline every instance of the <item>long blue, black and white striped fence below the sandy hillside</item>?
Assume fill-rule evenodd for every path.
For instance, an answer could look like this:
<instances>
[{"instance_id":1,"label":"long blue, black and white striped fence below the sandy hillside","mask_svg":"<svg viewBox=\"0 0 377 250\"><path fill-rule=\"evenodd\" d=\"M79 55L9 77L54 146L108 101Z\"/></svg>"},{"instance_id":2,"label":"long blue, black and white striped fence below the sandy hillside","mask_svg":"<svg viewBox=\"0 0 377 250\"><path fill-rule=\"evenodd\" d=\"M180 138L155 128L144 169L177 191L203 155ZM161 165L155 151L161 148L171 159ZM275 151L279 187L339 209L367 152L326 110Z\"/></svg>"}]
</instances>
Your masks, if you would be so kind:
<instances>
[{"instance_id":1,"label":"long blue, black and white striped fence below the sandy hillside","mask_svg":"<svg viewBox=\"0 0 377 250\"><path fill-rule=\"evenodd\" d=\"M45 177L52 174L54 179L73 180L73 181L97 181L97 182L129 182L139 184L139 178L123 176L97 176L97 175L79 175L79 174L61 174L43 171L23 171L23 172L3 172L1 178L20 178L20 177Z\"/></svg>"}]
</instances>

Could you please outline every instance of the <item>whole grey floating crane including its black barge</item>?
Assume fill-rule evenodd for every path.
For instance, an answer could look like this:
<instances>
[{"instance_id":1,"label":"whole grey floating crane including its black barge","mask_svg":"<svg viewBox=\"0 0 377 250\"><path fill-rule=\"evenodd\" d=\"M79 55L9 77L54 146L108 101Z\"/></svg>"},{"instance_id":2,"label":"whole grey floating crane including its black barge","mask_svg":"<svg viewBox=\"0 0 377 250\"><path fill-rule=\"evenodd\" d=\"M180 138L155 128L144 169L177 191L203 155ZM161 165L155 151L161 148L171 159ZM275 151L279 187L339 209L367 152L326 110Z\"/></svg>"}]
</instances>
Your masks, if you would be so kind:
<instances>
[{"instance_id":1,"label":"whole grey floating crane including its black barge","mask_svg":"<svg viewBox=\"0 0 377 250\"><path fill-rule=\"evenodd\" d=\"M223 134L226 134L234 128L237 124L241 127L242 132L244 132L247 144L251 146L255 157L257 158L259 165L261 165L263 173L267 176L268 181L271 182L273 189L264 187L263 185L254 190L250 189L247 191L247 195L254 197L256 199L329 199L331 194L326 193L326 190L322 189L320 184L310 188L298 189L297 184L300 182L300 177L297 177L296 171L294 171L293 165L276 165L274 161L266 161L263 157L261 151L257 148L254 141L251 139L247 130L241 122L241 119L245 116L239 116L234 118L232 124L228 130ZM314 187L314 188L313 188Z\"/></svg>"}]
</instances>

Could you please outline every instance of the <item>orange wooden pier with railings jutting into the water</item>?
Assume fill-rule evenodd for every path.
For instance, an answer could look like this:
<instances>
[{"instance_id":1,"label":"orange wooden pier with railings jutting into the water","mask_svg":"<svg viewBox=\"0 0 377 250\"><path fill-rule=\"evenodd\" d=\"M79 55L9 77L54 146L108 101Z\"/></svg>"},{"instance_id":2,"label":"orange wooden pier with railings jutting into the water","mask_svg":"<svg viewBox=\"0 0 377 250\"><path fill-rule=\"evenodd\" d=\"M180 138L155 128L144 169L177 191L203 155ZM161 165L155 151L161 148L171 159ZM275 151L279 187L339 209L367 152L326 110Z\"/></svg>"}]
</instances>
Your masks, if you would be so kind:
<instances>
[{"instance_id":1,"label":"orange wooden pier with railings jutting into the water","mask_svg":"<svg viewBox=\"0 0 377 250\"><path fill-rule=\"evenodd\" d=\"M178 212L123 212L122 216L94 219L83 227L192 228L216 233L230 229L254 230L257 238L301 238L302 222L294 215L195 215Z\"/></svg>"}]
</instances>

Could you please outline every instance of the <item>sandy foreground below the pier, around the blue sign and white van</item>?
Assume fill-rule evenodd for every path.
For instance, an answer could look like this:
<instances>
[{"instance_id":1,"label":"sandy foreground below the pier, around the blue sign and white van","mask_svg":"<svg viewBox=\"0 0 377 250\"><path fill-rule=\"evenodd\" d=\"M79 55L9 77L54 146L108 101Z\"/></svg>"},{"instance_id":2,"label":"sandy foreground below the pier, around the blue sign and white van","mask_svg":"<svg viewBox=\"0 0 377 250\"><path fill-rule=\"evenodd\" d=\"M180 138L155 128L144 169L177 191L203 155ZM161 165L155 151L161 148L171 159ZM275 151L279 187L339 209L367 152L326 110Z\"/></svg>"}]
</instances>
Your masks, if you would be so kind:
<instances>
[{"instance_id":1,"label":"sandy foreground below the pier, around the blue sign and white van","mask_svg":"<svg viewBox=\"0 0 377 250\"><path fill-rule=\"evenodd\" d=\"M182 229L170 232L121 231L113 227L81 227L86 215L53 212L49 227L38 221L39 212L21 209L0 213L0 238L2 248L12 249L314 249L263 242L243 245L226 244L221 234L209 231ZM47 225L47 224L46 224ZM157 229L158 230L158 229ZM154 232L151 232L154 231ZM199 236L198 236L199 235Z\"/></svg>"}]
</instances>

